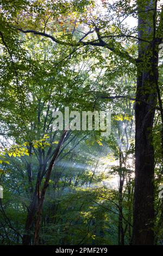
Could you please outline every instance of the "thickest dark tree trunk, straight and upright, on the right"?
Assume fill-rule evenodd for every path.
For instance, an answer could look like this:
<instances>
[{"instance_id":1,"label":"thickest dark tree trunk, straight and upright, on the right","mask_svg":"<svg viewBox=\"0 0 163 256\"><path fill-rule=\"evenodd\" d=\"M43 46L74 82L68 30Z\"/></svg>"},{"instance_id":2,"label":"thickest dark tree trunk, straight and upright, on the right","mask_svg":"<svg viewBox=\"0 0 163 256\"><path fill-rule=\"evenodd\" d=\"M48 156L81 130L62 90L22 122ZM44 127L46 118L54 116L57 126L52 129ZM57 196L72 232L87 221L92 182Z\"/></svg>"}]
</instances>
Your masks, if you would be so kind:
<instances>
[{"instance_id":1,"label":"thickest dark tree trunk, straight and upright, on the right","mask_svg":"<svg viewBox=\"0 0 163 256\"><path fill-rule=\"evenodd\" d=\"M133 244L154 244L154 149L152 129L158 81L158 44L155 40L156 1L137 1L139 41L135 106L135 193ZM151 11L147 11L153 9ZM143 11L143 13L141 12Z\"/></svg>"}]
</instances>

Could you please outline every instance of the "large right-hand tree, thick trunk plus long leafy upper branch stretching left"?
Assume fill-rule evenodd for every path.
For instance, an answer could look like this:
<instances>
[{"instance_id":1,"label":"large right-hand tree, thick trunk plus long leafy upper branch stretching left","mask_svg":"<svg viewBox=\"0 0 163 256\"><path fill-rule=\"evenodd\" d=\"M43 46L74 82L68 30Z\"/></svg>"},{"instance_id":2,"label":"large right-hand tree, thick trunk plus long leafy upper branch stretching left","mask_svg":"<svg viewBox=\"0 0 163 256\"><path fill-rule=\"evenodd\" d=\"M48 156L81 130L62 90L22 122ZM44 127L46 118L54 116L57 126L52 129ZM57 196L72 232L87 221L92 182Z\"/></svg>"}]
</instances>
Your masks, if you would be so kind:
<instances>
[{"instance_id":1,"label":"large right-hand tree, thick trunk plus long leafy upper branch stretching left","mask_svg":"<svg viewBox=\"0 0 163 256\"><path fill-rule=\"evenodd\" d=\"M3 6L5 10L4 3ZM154 148L152 131L157 96L160 111L162 111L158 85L158 59L159 45L162 41L163 10L156 0L134 2L124 0L115 4L107 4L104 1L102 8L106 8L105 10L108 10L110 15L104 15L103 19L103 15L99 13L91 15L94 7L95 3L92 1L80 1L78 6L76 1L71 3L49 1L47 4L36 1L26 6L25 11L18 9L18 20L17 15L10 19L9 16L6 18L5 14L4 24L8 26L9 31L14 31L14 33L20 31L22 34L34 34L51 39L54 45L59 44L62 48L68 49L68 54L64 57L66 60L72 58L72 55L77 52L83 54L83 57L89 56L90 51L97 54L99 65L105 63L106 60L113 65L121 61L128 72L131 69L137 71L137 89L134 99L136 160L133 244L153 245ZM122 25L121 17L126 15L137 17L136 29ZM29 17L32 17L30 22ZM84 33L79 27L85 29ZM57 34L58 28L61 29L59 34ZM5 45L2 34L1 37ZM31 40L30 36L28 40ZM138 42L137 48L136 42ZM81 50L83 47L85 51ZM108 57L102 56L101 48L104 52L106 49L109 50ZM100 97L111 99L112 95L105 94ZM118 99L118 97L128 97L128 95L114 95L113 97Z\"/></svg>"}]
</instances>

